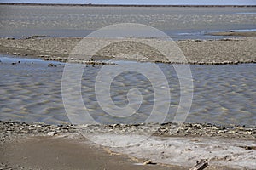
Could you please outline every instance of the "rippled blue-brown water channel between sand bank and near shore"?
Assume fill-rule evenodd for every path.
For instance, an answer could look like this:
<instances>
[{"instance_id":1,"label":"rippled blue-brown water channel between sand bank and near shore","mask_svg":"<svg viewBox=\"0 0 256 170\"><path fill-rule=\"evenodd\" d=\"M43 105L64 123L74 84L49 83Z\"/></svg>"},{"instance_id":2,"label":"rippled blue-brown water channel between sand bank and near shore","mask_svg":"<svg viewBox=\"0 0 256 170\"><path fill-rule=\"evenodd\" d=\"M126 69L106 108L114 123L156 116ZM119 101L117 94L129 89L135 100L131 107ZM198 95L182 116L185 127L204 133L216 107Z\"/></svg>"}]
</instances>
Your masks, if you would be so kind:
<instances>
[{"instance_id":1,"label":"rippled blue-brown water channel between sand bank and near shore","mask_svg":"<svg viewBox=\"0 0 256 170\"><path fill-rule=\"evenodd\" d=\"M0 120L51 124L69 122L61 96L61 77L65 65L41 59L13 58L7 55L1 55L0 60L2 61L0 63ZM12 63L16 64L12 65ZM48 67L49 63L57 66ZM126 62L119 63L119 65L125 64ZM153 64L140 65L146 71L151 71ZM158 66L169 82L172 99L166 122L172 122L179 104L179 82L172 65L158 64ZM115 69L114 65L108 65L108 67ZM135 71L127 71L115 77L110 90L115 105L124 107L128 104L126 95L131 88L137 88L141 92L143 103L137 114L125 118L114 117L102 111L97 103L94 82L101 68L99 65L87 65L81 81L84 105L90 115L100 123L144 122L154 104L154 89L147 77ZM186 122L255 125L255 64L190 65L190 69L194 81L194 99ZM160 100L163 105L170 103L164 98ZM161 107L162 105L157 105L160 111ZM83 108L75 108L75 111L81 113ZM157 117L155 120L157 121Z\"/></svg>"}]
</instances>

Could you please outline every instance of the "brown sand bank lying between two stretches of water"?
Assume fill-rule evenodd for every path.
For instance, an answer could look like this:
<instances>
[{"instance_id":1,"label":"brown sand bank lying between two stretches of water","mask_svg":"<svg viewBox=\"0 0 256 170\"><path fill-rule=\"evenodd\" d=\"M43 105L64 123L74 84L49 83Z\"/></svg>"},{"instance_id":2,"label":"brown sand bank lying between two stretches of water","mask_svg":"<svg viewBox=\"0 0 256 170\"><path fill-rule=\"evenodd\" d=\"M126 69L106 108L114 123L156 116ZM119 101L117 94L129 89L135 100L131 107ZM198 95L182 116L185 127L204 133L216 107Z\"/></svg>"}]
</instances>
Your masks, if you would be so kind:
<instances>
[{"instance_id":1,"label":"brown sand bank lying between two stretches of water","mask_svg":"<svg viewBox=\"0 0 256 170\"><path fill-rule=\"evenodd\" d=\"M32 55L46 60L67 61L69 54L79 44L82 38L30 38L13 39L0 38L0 53L15 55ZM90 47L97 47L101 41L113 42L108 48L97 51L94 59L128 59L149 62L166 62L173 64L239 64L256 63L256 38L247 37L239 39L221 40L183 40L177 41L186 60L180 59L178 55L171 60L163 57L159 50L150 48L142 43L135 43L133 38L126 38L121 43L113 39L87 38ZM143 41L143 39L140 39ZM144 41L161 44L160 48L168 51L168 43L156 39L145 39ZM80 44L81 45L81 44ZM173 44L172 44L173 45ZM88 48L88 47L87 47ZM172 49L170 49L172 50ZM172 52L172 51L171 51ZM132 55L127 55L132 54ZM86 53L85 53L86 55ZM137 57L137 55L140 55ZM143 56L143 57L141 57ZM84 59L73 57L73 61L82 62ZM86 59L85 59L86 60Z\"/></svg>"}]
</instances>

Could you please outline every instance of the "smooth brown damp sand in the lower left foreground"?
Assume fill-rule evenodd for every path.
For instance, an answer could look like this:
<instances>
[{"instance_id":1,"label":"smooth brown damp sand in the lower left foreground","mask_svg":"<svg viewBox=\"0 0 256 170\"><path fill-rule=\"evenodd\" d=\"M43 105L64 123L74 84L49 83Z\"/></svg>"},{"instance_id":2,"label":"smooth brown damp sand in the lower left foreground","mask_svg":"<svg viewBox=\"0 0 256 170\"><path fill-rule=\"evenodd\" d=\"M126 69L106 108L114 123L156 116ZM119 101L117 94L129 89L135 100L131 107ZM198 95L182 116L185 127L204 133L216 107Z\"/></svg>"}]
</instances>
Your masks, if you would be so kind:
<instances>
[{"instance_id":1,"label":"smooth brown damp sand in the lower left foreground","mask_svg":"<svg viewBox=\"0 0 256 170\"><path fill-rule=\"evenodd\" d=\"M82 143L83 142L83 143ZM100 146L67 137L20 137L1 144L3 169L184 169L136 165L128 156L110 154Z\"/></svg>"}]
</instances>

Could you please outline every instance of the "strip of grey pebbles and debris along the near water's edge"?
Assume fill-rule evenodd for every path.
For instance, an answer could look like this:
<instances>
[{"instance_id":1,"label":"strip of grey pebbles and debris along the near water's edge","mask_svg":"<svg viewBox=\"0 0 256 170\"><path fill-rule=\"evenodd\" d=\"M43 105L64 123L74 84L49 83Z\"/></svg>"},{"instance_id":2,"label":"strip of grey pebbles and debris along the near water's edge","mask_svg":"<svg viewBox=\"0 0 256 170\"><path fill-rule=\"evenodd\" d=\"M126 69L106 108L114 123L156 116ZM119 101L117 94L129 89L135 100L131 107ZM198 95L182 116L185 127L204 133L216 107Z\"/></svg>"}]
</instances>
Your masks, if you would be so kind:
<instances>
[{"instance_id":1,"label":"strip of grey pebbles and debris along the near water's edge","mask_svg":"<svg viewBox=\"0 0 256 170\"><path fill-rule=\"evenodd\" d=\"M79 125L70 124L47 125L44 123L28 124L26 122L1 122L0 141L4 135L10 134L45 134L54 136L57 133L73 133L85 129L90 133L154 133L157 136L205 136L224 137L234 139L256 139L256 127L245 126L217 126L209 123L184 123L177 125L168 122L163 124L112 124L112 125Z\"/></svg>"}]
</instances>

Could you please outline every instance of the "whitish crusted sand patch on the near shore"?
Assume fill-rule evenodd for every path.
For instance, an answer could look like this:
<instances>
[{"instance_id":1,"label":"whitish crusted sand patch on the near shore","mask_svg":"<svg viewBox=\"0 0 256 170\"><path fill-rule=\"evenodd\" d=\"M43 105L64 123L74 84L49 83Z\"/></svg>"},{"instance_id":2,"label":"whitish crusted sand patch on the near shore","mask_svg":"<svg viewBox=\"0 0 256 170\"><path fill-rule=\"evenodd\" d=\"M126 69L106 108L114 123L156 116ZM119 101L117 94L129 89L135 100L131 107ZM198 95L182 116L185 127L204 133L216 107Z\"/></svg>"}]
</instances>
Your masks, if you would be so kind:
<instances>
[{"instance_id":1,"label":"whitish crusted sand patch on the near shore","mask_svg":"<svg viewBox=\"0 0 256 170\"><path fill-rule=\"evenodd\" d=\"M239 139L216 139L202 137L150 137L137 135L99 134L96 143L114 146L111 150L156 163L193 167L196 161L207 159L213 167L255 169L256 150L246 149L256 146L255 141ZM141 139L139 143L135 141ZM135 145L131 145L135 144Z\"/></svg>"}]
</instances>

